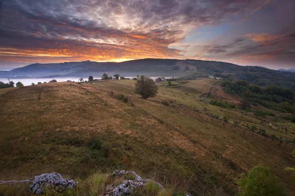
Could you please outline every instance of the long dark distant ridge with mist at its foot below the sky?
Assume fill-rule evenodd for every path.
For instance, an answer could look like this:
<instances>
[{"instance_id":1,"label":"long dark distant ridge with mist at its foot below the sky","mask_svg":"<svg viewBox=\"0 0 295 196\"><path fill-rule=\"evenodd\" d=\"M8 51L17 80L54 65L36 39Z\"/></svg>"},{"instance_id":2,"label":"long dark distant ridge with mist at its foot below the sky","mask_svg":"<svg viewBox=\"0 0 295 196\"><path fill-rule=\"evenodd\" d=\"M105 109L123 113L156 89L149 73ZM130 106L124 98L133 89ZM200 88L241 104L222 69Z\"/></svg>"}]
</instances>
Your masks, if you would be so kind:
<instances>
[{"instance_id":1,"label":"long dark distant ridge with mist at its foot below the sky","mask_svg":"<svg viewBox=\"0 0 295 196\"><path fill-rule=\"evenodd\" d=\"M292 70L292 69L291 69ZM293 69L295 71L295 69ZM174 76L186 79L208 77L232 77L246 80L249 83L261 86L275 85L287 87L295 91L295 73L270 70L259 66L239 66L232 63L201 60L177 59L139 59L125 62L65 62L52 64L31 64L0 72L0 77L28 78L28 77L85 77L92 75L101 77L103 73L109 75L135 76L144 74L148 76Z\"/></svg>"}]
</instances>

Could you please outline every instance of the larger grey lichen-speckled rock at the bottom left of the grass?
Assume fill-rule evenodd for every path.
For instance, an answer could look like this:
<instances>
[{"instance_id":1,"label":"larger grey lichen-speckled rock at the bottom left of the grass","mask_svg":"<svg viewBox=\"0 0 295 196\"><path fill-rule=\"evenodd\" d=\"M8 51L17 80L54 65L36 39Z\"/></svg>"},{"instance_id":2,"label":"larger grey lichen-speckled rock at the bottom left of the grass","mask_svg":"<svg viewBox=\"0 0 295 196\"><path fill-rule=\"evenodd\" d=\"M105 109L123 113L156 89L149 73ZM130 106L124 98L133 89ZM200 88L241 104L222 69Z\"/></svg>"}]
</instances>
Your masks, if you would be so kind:
<instances>
[{"instance_id":1,"label":"larger grey lichen-speckled rock at the bottom left of the grass","mask_svg":"<svg viewBox=\"0 0 295 196\"><path fill-rule=\"evenodd\" d=\"M76 182L72 179L64 179L59 173L42 173L31 180L29 190L34 194L41 194L44 188L52 186L56 190L72 189Z\"/></svg>"}]
</instances>

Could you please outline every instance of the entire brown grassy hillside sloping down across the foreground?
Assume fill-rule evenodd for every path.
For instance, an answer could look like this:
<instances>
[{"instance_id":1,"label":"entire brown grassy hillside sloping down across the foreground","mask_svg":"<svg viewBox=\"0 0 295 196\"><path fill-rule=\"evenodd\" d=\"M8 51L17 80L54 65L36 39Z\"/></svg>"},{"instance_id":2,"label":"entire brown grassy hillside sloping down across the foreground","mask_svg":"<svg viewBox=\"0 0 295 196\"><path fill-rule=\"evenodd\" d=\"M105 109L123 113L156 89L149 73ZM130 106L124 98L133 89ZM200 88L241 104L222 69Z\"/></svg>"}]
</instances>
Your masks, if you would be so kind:
<instances>
[{"instance_id":1,"label":"entire brown grassy hillside sloping down across the foreground","mask_svg":"<svg viewBox=\"0 0 295 196\"><path fill-rule=\"evenodd\" d=\"M131 80L47 83L0 93L0 179L60 172L79 181L97 170L127 169L195 195L235 194L240 171L192 142L198 141L246 171L259 163L270 167L292 195L291 173L284 171L294 165L291 146L252 136L245 125L260 123L253 114L208 104L202 95L214 88L217 80L186 81L160 86L148 100L134 94ZM118 94L128 102L118 100ZM223 126L208 114L230 121ZM241 122L237 128L233 118Z\"/></svg>"}]
</instances>

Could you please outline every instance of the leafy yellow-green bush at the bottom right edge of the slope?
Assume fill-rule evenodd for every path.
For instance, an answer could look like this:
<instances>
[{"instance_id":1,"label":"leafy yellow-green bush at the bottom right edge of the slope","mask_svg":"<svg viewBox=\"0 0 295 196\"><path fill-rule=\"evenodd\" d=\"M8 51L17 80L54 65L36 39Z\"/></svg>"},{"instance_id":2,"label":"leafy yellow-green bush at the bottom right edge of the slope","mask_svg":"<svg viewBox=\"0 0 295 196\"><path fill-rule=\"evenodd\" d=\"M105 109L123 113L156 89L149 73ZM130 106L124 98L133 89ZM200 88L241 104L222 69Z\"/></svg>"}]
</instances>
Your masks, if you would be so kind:
<instances>
[{"instance_id":1,"label":"leafy yellow-green bush at the bottom right edge of the slope","mask_svg":"<svg viewBox=\"0 0 295 196\"><path fill-rule=\"evenodd\" d=\"M236 178L240 196L287 196L284 184L267 167L255 166L240 179Z\"/></svg>"}]
</instances>

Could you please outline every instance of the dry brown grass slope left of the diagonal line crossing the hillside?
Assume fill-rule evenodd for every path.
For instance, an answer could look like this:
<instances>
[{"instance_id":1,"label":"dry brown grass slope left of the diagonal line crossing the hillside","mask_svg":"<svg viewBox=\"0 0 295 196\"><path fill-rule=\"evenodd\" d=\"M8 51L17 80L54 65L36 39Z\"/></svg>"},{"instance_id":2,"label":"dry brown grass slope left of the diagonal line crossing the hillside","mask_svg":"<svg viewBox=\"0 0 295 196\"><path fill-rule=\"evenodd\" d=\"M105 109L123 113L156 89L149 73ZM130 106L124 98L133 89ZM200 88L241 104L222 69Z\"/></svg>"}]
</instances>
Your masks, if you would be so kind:
<instances>
[{"instance_id":1,"label":"dry brown grass slope left of the diagonal line crossing the hillside","mask_svg":"<svg viewBox=\"0 0 295 196\"><path fill-rule=\"evenodd\" d=\"M114 82L109 85L120 90L123 86ZM96 170L127 169L147 178L156 176L158 182L180 191L194 173L191 193L214 192L221 186L225 193L235 192L232 176L222 173L233 172L226 165L167 130L164 124L111 97L104 88L58 82L3 93L0 179L21 180L59 172L85 180ZM132 101L138 99L139 104L143 101L143 106L149 103L152 109L159 106L127 96ZM161 110L157 114L161 116ZM199 159L202 153L204 158ZM216 163L207 165L203 160Z\"/></svg>"}]
</instances>

